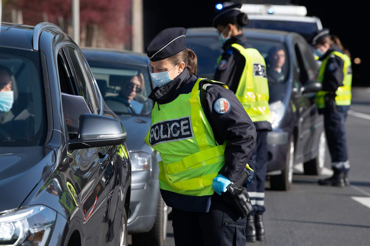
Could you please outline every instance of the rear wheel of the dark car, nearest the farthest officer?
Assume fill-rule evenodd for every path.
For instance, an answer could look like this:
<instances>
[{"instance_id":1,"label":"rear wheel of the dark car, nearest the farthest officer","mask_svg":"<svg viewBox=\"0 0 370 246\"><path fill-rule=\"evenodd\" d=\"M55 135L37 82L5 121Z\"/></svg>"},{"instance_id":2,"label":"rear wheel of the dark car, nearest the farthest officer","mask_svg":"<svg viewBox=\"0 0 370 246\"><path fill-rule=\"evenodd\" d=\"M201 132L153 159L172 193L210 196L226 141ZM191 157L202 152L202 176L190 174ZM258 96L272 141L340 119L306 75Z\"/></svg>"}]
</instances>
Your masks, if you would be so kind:
<instances>
[{"instance_id":1,"label":"rear wheel of the dark car, nearest the farthest officer","mask_svg":"<svg viewBox=\"0 0 370 246\"><path fill-rule=\"evenodd\" d=\"M303 163L303 171L306 175L320 175L325 164L326 136L322 131L319 140L319 151L316 158Z\"/></svg>"}]
</instances>

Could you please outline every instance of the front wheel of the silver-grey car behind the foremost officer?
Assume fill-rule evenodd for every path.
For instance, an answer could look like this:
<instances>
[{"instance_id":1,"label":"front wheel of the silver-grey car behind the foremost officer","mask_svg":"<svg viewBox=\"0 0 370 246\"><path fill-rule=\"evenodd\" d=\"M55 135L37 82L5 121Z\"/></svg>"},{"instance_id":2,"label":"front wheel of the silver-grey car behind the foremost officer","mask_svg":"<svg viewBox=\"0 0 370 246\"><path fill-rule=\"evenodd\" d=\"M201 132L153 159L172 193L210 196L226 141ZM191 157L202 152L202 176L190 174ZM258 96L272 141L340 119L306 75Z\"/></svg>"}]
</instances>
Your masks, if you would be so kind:
<instances>
[{"instance_id":1,"label":"front wheel of the silver-grey car behind the foremost officer","mask_svg":"<svg viewBox=\"0 0 370 246\"><path fill-rule=\"evenodd\" d=\"M153 228L146 233L133 234L132 245L164 246L167 235L167 210L167 205L163 201L162 197L159 197L157 217L155 218Z\"/></svg>"}]
</instances>

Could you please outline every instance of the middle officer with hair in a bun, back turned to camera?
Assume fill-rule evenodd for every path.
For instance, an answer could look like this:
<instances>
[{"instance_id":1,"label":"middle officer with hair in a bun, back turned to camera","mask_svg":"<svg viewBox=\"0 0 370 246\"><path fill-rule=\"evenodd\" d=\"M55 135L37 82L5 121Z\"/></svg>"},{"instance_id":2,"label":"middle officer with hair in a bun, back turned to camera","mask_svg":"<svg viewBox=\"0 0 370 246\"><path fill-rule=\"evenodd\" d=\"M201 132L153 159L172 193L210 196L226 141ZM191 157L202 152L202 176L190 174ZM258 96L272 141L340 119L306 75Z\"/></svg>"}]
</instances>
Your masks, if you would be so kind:
<instances>
[{"instance_id":1,"label":"middle officer with hair in a bun, back turned to camera","mask_svg":"<svg viewBox=\"0 0 370 246\"><path fill-rule=\"evenodd\" d=\"M214 79L225 83L235 93L256 127L256 147L248 162L255 176L248 187L254 211L247 216L246 226L246 240L255 242L265 239L262 214L265 211L267 133L271 130L269 88L265 59L242 33L248 17L240 11L241 6L227 6L213 19L212 25L217 28L224 50Z\"/></svg>"}]
</instances>

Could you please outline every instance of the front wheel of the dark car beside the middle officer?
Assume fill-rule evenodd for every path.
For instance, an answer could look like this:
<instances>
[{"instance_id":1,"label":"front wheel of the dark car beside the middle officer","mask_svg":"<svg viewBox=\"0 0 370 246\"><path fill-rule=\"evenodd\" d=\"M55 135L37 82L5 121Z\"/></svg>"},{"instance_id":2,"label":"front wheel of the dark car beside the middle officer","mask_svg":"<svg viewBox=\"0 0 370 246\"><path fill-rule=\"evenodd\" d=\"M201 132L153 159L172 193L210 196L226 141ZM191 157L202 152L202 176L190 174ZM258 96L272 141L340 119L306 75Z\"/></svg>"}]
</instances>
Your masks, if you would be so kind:
<instances>
[{"instance_id":1,"label":"front wheel of the dark car beside the middle officer","mask_svg":"<svg viewBox=\"0 0 370 246\"><path fill-rule=\"evenodd\" d=\"M271 190L290 190L293 180L294 164L294 138L290 136L290 143L287 150L285 167L279 175L270 177Z\"/></svg>"}]
</instances>

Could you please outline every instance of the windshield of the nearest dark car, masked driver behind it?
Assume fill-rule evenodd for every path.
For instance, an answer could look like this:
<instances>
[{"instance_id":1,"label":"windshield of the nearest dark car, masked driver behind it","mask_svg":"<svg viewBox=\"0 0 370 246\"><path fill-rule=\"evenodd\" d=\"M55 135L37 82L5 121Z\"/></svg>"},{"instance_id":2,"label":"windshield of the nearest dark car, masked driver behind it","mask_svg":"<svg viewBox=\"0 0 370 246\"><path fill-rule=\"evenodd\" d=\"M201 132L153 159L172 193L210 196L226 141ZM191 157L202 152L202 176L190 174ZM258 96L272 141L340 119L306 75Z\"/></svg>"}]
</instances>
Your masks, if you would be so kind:
<instances>
[{"instance_id":1,"label":"windshield of the nearest dark car, masked driver behind it","mask_svg":"<svg viewBox=\"0 0 370 246\"><path fill-rule=\"evenodd\" d=\"M44 144L46 119L39 53L0 48L0 146Z\"/></svg>"}]
</instances>

